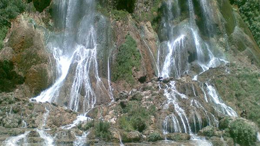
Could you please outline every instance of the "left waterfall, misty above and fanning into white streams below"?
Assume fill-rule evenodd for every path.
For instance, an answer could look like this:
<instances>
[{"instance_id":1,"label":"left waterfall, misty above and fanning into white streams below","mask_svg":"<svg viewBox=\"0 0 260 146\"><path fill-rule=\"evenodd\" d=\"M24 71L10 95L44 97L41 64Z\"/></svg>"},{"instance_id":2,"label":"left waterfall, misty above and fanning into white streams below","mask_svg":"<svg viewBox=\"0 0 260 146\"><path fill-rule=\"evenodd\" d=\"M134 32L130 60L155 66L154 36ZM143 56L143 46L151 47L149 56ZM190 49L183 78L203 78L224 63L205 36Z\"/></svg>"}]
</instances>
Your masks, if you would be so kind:
<instances>
[{"instance_id":1,"label":"left waterfall, misty above and fanning into white streams below","mask_svg":"<svg viewBox=\"0 0 260 146\"><path fill-rule=\"evenodd\" d=\"M66 102L65 106L73 111L85 113L96 103L97 90L105 89L98 73L95 2L55 0L54 8L57 11L54 22L62 31L53 36L47 47L53 52L57 79L34 99L37 102ZM108 72L109 69L108 62ZM113 101L110 74L108 78L109 96Z\"/></svg>"}]
</instances>

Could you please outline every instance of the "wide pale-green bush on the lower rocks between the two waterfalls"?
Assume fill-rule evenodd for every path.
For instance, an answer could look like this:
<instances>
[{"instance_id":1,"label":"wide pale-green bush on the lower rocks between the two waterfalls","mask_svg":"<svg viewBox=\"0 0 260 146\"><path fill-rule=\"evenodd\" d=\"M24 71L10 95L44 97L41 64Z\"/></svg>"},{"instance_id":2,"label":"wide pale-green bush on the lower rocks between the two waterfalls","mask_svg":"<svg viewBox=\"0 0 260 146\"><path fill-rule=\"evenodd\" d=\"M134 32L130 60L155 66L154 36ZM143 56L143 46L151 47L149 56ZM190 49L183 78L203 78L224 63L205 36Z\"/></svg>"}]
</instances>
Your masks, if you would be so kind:
<instances>
[{"instance_id":1,"label":"wide pale-green bush on the lower rocks between the two waterfalls","mask_svg":"<svg viewBox=\"0 0 260 146\"><path fill-rule=\"evenodd\" d=\"M155 113L155 106L147 109L138 101L130 101L123 112L126 114L119 119L120 128L127 132L142 132L148 127L150 116Z\"/></svg>"}]
</instances>

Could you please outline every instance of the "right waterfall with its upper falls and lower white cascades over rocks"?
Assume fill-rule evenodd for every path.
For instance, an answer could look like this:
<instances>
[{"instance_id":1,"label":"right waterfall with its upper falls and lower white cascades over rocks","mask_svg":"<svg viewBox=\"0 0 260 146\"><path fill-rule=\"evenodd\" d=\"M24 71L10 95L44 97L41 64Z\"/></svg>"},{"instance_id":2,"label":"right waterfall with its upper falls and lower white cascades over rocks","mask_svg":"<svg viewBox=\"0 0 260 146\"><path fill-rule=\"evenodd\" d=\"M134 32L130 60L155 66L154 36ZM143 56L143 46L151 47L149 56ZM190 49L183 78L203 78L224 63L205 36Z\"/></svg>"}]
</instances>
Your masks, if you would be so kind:
<instances>
[{"instance_id":1,"label":"right waterfall with its upper falls and lower white cascades over rocks","mask_svg":"<svg viewBox=\"0 0 260 146\"><path fill-rule=\"evenodd\" d=\"M210 9L210 2L200 0L200 4L203 13L202 17L206 21L205 27L207 28L207 33L214 32L216 28L211 26L214 20L210 18L213 15L213 11ZM158 66L162 66L159 68L160 77L180 78L184 73L189 73L190 66L196 63L198 67L200 67L200 70L197 71L195 75L193 73L193 80L197 81L198 75L201 73L212 67L228 63L228 61L223 59L223 53L220 50L211 47L211 44L214 44L214 42L209 42L210 38L205 40L204 37L201 37L202 34L196 23L197 16L194 12L192 0L188 0L188 21L179 22L181 8L178 0L168 0L165 2L165 6L167 7L164 10L166 17L163 17L162 25L166 27L168 41L167 47L159 47L158 49L157 63ZM209 34L208 36L213 37L214 35ZM192 50L191 48L194 49ZM190 52L193 52L193 56L195 56L192 59L188 57ZM164 56L162 57L162 55ZM207 90L205 90L203 84L199 82L204 95L202 98L204 101L198 101L197 98L199 95L196 94L193 84L192 90L194 98L188 99L188 96L177 91L175 83L176 81L171 81L164 90L164 95L167 98L164 108L168 109L169 106L172 106L175 110L174 113L166 115L163 121L164 134L172 132L196 134L201 128L207 125L218 127L219 121L208 111L208 108L202 106L204 104L213 106L213 108L221 114L237 116L231 107L224 104L213 86L206 84ZM180 101L182 100L183 102L190 101L192 110L182 108L180 106ZM203 121L203 118L206 121ZM198 141L196 138L194 138L194 140ZM206 142L205 145L211 144Z\"/></svg>"}]
</instances>

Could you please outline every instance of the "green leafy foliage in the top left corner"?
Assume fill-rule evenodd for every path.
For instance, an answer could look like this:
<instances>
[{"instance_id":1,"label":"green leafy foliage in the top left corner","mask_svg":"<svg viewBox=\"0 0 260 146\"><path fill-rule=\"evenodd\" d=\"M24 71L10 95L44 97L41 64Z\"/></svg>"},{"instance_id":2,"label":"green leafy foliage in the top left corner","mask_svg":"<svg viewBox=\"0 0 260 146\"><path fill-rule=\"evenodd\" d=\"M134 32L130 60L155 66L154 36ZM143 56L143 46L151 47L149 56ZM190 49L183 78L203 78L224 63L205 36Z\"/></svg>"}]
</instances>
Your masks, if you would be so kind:
<instances>
[{"instance_id":1,"label":"green leafy foliage in the top left corner","mask_svg":"<svg viewBox=\"0 0 260 146\"><path fill-rule=\"evenodd\" d=\"M25 3L22 0L1 0L0 1L0 50L3 47L3 39L8 28L11 26L11 19L14 19L25 10Z\"/></svg>"}]
</instances>

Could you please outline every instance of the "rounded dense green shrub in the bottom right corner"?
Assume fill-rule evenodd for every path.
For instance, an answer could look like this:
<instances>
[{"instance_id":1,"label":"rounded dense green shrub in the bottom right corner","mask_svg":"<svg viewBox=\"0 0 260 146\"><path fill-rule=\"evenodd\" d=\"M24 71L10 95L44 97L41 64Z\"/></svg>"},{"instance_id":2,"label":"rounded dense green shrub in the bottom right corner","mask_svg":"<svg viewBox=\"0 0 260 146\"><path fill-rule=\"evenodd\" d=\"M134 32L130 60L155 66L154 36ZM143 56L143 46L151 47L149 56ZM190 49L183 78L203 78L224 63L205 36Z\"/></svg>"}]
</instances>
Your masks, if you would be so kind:
<instances>
[{"instance_id":1,"label":"rounded dense green shrub in the bottom right corner","mask_svg":"<svg viewBox=\"0 0 260 146\"><path fill-rule=\"evenodd\" d=\"M243 146L253 145L256 141L256 129L242 119L237 119L230 124L230 135L234 141Z\"/></svg>"}]
</instances>

